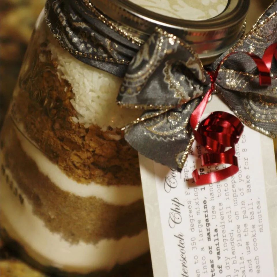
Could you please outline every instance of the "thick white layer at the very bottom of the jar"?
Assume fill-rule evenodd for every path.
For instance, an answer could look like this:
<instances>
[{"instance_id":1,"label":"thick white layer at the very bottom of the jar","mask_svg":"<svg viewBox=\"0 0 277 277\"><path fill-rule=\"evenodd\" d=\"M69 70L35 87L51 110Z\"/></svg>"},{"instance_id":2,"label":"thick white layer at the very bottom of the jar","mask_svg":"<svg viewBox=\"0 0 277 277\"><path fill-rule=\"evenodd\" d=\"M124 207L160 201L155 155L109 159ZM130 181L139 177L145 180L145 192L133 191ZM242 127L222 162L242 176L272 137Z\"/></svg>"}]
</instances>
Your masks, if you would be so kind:
<instances>
[{"instance_id":1,"label":"thick white layer at the very bottom of the jar","mask_svg":"<svg viewBox=\"0 0 277 277\"><path fill-rule=\"evenodd\" d=\"M1 160L4 162L3 156ZM33 214L32 206L9 170L6 173L18 194L23 195L24 203L20 204L18 194L13 193L6 178L1 175L1 222L9 235L25 247L29 256L42 265L79 273L110 270L116 264L124 264L149 250L147 230L119 240L102 239L97 244L70 244L59 234L51 233L44 222Z\"/></svg>"}]
</instances>

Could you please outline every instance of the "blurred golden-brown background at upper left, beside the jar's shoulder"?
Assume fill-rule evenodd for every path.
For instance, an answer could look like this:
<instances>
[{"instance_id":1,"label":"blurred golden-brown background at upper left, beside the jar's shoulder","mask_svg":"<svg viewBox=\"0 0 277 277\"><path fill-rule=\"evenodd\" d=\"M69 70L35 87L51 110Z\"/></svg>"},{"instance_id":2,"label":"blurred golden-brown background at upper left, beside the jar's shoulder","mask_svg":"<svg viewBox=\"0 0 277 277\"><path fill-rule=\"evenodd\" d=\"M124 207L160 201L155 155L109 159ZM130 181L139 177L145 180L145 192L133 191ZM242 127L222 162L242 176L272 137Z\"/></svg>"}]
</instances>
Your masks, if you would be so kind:
<instances>
[{"instance_id":1,"label":"blurred golden-brown background at upper left, beside the jar's shoulder","mask_svg":"<svg viewBox=\"0 0 277 277\"><path fill-rule=\"evenodd\" d=\"M1 0L1 126L35 20L45 0Z\"/></svg>"}]
</instances>

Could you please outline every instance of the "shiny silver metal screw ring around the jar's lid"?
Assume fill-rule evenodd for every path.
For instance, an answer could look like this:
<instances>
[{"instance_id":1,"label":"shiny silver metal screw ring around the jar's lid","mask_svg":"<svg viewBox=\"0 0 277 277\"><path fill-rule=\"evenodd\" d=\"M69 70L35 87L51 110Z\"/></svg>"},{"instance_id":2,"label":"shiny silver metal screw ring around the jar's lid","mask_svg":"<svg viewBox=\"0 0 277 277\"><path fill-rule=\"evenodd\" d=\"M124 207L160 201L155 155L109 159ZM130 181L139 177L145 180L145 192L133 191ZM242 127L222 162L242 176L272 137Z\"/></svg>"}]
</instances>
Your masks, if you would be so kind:
<instances>
[{"instance_id":1,"label":"shiny silver metal screw ring around the jar's lid","mask_svg":"<svg viewBox=\"0 0 277 277\"><path fill-rule=\"evenodd\" d=\"M122 33L144 42L159 26L186 41L200 58L220 55L242 35L250 0L229 0L218 16L205 20L184 20L158 14L128 0L83 0L102 18L120 25ZM112 28L112 26L111 26Z\"/></svg>"}]
</instances>

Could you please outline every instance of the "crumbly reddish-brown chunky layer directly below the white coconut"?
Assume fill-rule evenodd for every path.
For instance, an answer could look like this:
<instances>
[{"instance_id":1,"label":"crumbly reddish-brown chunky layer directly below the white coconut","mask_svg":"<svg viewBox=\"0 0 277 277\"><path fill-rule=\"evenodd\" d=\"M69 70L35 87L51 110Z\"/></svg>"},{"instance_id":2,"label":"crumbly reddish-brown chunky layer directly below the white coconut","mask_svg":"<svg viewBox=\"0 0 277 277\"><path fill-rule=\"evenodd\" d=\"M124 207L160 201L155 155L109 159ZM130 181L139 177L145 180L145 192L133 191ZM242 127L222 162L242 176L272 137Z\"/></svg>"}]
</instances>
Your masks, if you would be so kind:
<instances>
[{"instance_id":1,"label":"crumbly reddish-brown chunky layer directly below the white coconut","mask_svg":"<svg viewBox=\"0 0 277 277\"><path fill-rule=\"evenodd\" d=\"M78 115L70 102L72 87L61 77L46 44L31 47L27 54L11 112L31 140L80 183L139 186L138 155L122 131L103 132L96 125L85 128L74 122Z\"/></svg>"}]
</instances>

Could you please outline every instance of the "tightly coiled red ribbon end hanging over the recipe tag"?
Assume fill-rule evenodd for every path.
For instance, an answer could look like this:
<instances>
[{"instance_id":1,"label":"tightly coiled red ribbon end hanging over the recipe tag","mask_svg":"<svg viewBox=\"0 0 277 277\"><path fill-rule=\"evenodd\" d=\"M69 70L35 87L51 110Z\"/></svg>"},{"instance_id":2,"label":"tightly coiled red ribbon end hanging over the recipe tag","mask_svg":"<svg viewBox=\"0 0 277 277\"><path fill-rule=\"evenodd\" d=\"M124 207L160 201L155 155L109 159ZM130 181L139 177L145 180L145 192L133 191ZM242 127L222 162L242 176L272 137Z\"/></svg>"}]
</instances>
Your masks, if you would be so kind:
<instances>
[{"instance_id":1,"label":"tightly coiled red ribbon end hanging over the recipe tag","mask_svg":"<svg viewBox=\"0 0 277 277\"><path fill-rule=\"evenodd\" d=\"M230 164L219 171L199 175L197 169L192 172L196 185L211 184L226 179L238 172L235 143L243 131L243 125L237 117L226 112L213 112L204 119L197 130L196 141L209 153L201 155L202 166ZM225 151L226 147L231 147Z\"/></svg>"}]
</instances>

